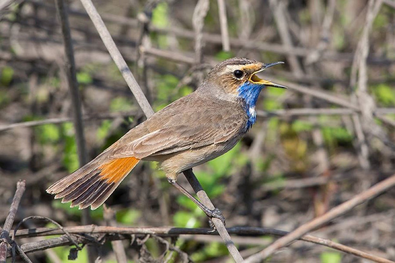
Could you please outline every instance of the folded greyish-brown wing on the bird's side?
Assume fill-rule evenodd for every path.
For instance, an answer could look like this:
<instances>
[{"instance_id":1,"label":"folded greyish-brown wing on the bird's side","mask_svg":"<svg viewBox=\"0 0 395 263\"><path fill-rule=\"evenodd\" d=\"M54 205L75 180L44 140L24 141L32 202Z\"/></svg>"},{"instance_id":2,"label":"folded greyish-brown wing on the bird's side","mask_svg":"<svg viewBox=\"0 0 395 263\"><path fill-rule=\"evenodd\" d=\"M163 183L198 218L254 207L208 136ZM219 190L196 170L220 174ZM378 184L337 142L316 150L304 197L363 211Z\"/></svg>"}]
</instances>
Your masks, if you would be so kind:
<instances>
[{"instance_id":1,"label":"folded greyish-brown wing on the bird's side","mask_svg":"<svg viewBox=\"0 0 395 263\"><path fill-rule=\"evenodd\" d=\"M209 101L204 107L178 110L167 114L169 118L162 121L165 123L163 127L131 142L120 144L109 158L134 156L143 159L152 155L166 155L226 142L245 132L245 112L235 103L218 105ZM166 114L163 117L166 117ZM150 123L147 123L147 127L149 125Z\"/></svg>"}]
</instances>

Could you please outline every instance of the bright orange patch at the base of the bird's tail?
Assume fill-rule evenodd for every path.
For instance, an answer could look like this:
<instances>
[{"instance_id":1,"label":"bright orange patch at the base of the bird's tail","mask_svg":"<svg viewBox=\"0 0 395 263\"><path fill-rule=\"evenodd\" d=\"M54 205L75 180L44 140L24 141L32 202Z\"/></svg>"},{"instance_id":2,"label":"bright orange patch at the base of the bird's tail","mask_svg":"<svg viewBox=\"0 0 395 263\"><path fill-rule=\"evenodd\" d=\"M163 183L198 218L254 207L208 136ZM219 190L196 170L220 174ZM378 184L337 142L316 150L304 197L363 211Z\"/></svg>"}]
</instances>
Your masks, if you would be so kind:
<instances>
[{"instance_id":1,"label":"bright orange patch at the base of the bird's tail","mask_svg":"<svg viewBox=\"0 0 395 263\"><path fill-rule=\"evenodd\" d=\"M115 183L121 180L125 173L130 172L140 160L135 157L125 157L111 160L102 166L100 176L102 180L107 180L107 183Z\"/></svg>"}]
</instances>

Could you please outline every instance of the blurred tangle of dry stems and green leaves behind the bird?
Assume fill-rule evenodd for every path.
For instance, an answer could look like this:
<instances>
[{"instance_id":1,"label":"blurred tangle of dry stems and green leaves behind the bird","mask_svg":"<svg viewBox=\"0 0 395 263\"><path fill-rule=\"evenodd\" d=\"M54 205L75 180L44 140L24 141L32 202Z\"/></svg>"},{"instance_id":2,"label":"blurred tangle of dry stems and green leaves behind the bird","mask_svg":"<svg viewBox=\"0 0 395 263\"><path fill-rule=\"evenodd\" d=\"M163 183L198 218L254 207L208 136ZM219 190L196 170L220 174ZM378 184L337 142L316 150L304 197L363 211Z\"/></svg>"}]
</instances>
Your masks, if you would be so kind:
<instances>
[{"instance_id":1,"label":"blurred tangle of dry stems and green leaves behind the bird","mask_svg":"<svg viewBox=\"0 0 395 263\"><path fill-rule=\"evenodd\" d=\"M226 58L285 62L261 77L289 89L265 89L257 123L241 142L194 168L227 226L290 231L393 174L395 1L226 0L222 31L221 1L199 1L199 10L197 2L94 4L155 111L194 91ZM81 3L66 4L90 160L145 116ZM0 226L21 179L26 192L16 223L41 215L63 226L80 225L80 210L45 192L79 167L55 4L17 1L0 11L0 19ZM105 202L117 224L207 227L204 213L156 166L139 163ZM179 182L192 191L183 175ZM389 190L312 234L395 259L394 201L395 191ZM91 216L92 223L107 224L102 207ZM22 228L38 226L49 225L31 221ZM274 240L235 243L248 255ZM130 262L138 262L139 253L124 244ZM146 245L152 257L162 253L155 240ZM216 237L182 237L176 245L196 262L229 262ZM67 262L69 249L29 257ZM103 262L116 262L110 244L101 247L101 255ZM86 261L83 250L74 262ZM269 261L365 262L302 241Z\"/></svg>"}]
</instances>

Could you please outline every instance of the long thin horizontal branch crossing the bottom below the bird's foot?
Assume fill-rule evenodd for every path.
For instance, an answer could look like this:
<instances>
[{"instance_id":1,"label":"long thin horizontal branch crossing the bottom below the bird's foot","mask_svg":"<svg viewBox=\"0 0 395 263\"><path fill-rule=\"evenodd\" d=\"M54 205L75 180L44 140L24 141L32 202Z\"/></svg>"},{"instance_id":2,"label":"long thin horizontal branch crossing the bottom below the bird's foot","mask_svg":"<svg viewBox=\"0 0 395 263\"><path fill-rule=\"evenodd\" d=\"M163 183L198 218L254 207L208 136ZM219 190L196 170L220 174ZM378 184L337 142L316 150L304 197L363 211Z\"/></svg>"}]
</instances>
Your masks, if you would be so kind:
<instances>
[{"instance_id":1,"label":"long thin horizontal branch crossing the bottom below the bird's foot","mask_svg":"<svg viewBox=\"0 0 395 263\"><path fill-rule=\"evenodd\" d=\"M208 228L171 228L171 227L159 227L159 228L128 228L128 227L112 227L112 226L70 226L64 227L70 234L79 235L75 236L75 242L86 243L86 242L94 242L94 239L87 238L81 239L83 234L88 235L103 235L110 234L107 236L107 240L121 240L121 239L130 239L131 235L157 235L160 237L174 237L174 236L183 236L183 235L217 235L216 232L211 232L211 229ZM249 235L249 236L261 236L261 235L276 235L276 236L285 236L289 232L282 231L278 229L269 229L269 228L254 228L254 227L233 227L227 228L227 231L232 235ZM18 230L15 237L25 238L25 237L36 237L36 236L49 236L49 235L59 235L62 234L63 231L58 228L35 228L35 229L23 229ZM393 261L384 259L382 257L377 257L371 255L369 253L363 252L361 250L357 250L355 248L351 248L345 246L343 244L339 244L337 242L330 241L329 239L323 239L320 237L314 237L312 235L304 235L299 238L299 240L307 241L315 244L320 244L323 246L327 246L348 254L353 254L358 257L374 260L376 262L384 262L384 263L393 263ZM56 238L56 239L47 239L39 242L32 242L28 244L22 245L24 251L33 252L38 250L47 249L49 247L55 246L65 246L72 244L69 239L65 236Z\"/></svg>"}]
</instances>

